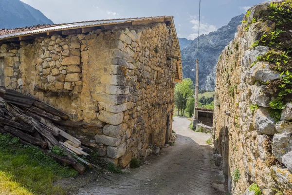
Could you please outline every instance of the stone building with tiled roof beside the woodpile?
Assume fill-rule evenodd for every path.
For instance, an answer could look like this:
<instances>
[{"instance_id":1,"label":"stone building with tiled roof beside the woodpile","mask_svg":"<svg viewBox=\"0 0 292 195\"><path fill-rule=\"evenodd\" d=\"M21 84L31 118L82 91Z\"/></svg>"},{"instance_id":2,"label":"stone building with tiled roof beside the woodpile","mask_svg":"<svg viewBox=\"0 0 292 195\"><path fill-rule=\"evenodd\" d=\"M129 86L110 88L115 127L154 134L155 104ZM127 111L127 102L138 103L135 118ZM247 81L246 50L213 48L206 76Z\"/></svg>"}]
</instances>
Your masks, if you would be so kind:
<instances>
[{"instance_id":1,"label":"stone building with tiled roof beside the woodpile","mask_svg":"<svg viewBox=\"0 0 292 195\"><path fill-rule=\"evenodd\" d=\"M169 140L181 80L171 16L0 30L0 86L94 124L68 132L122 167Z\"/></svg>"}]
</instances>

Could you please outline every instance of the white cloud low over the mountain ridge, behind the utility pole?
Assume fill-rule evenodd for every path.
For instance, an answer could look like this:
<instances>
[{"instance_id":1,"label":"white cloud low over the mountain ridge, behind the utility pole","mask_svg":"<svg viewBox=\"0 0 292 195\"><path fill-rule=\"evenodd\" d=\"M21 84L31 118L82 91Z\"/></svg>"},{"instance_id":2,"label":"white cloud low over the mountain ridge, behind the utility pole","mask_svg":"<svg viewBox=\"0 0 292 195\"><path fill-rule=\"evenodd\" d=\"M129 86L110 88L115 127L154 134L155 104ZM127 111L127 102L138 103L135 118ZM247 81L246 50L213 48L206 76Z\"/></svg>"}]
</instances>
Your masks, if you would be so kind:
<instances>
[{"instance_id":1,"label":"white cloud low over the mountain ridge, behind the utility pole","mask_svg":"<svg viewBox=\"0 0 292 195\"><path fill-rule=\"evenodd\" d=\"M199 36L199 20L196 19L196 16L191 17L190 22L193 24L193 31L195 33L190 34L188 39L196 39ZM212 24L200 23L200 35L209 34L217 30L217 27Z\"/></svg>"}]
</instances>

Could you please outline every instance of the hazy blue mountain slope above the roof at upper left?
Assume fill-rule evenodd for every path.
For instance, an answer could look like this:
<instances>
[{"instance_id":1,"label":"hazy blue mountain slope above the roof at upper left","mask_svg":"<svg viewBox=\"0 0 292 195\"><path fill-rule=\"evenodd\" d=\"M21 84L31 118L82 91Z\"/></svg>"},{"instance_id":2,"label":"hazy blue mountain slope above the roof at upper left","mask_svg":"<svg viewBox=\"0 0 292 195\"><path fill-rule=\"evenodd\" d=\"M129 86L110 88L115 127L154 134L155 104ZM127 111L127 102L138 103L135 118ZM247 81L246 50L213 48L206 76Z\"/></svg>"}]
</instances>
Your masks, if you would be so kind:
<instances>
[{"instance_id":1,"label":"hazy blue mountain slope above the roof at upper left","mask_svg":"<svg viewBox=\"0 0 292 195\"><path fill-rule=\"evenodd\" d=\"M0 29L53 24L39 10L20 0L0 0Z\"/></svg>"}]
</instances>

